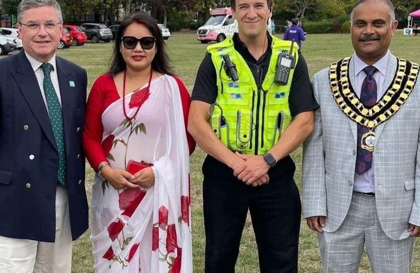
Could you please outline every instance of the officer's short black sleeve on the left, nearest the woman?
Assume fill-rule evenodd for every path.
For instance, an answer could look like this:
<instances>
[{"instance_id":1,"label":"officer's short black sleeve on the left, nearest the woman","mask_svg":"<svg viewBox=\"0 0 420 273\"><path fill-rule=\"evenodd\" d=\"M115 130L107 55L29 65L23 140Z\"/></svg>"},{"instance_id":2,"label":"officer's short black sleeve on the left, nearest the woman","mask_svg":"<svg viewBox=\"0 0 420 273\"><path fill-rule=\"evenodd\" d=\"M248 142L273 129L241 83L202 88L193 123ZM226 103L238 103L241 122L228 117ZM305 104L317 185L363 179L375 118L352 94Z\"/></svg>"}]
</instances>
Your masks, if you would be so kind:
<instances>
[{"instance_id":1,"label":"officer's short black sleeve on the left, nearest the woman","mask_svg":"<svg viewBox=\"0 0 420 273\"><path fill-rule=\"evenodd\" d=\"M217 94L216 68L212 61L212 55L207 53L198 68L191 100L213 104L216 102Z\"/></svg>"}]
</instances>

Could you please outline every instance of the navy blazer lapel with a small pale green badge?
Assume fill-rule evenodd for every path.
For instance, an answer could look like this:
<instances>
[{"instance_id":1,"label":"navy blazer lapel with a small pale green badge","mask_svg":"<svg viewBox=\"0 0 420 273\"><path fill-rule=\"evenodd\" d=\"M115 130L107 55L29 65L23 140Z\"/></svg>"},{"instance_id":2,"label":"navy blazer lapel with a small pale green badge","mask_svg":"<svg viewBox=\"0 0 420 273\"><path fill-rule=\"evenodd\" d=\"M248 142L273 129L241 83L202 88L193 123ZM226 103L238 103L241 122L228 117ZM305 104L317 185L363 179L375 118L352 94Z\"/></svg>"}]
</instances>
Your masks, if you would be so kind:
<instances>
[{"instance_id":1,"label":"navy blazer lapel with a small pale green badge","mask_svg":"<svg viewBox=\"0 0 420 273\"><path fill-rule=\"evenodd\" d=\"M77 96L77 84L80 84L73 74L63 65L60 58L56 58L57 76L60 84L61 109L63 114L64 140L66 154L70 151L70 130L72 127L74 113L74 97Z\"/></svg>"}]
</instances>

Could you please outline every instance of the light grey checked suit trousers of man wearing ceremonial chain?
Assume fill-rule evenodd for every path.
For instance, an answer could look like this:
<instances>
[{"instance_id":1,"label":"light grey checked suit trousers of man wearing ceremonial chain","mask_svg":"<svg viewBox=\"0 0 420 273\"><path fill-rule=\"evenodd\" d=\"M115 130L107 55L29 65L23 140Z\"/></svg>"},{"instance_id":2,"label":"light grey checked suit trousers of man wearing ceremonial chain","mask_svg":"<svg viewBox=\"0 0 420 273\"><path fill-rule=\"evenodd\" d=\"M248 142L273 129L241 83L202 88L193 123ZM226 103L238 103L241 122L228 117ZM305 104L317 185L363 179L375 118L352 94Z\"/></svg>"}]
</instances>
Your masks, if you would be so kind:
<instances>
[{"instance_id":1,"label":"light grey checked suit trousers of man wearing ceremonial chain","mask_svg":"<svg viewBox=\"0 0 420 273\"><path fill-rule=\"evenodd\" d=\"M363 246L373 273L409 273L414 242L415 237L388 238L377 217L375 197L361 193L353 193L349 212L337 231L318 233L324 273L357 273Z\"/></svg>"}]
</instances>

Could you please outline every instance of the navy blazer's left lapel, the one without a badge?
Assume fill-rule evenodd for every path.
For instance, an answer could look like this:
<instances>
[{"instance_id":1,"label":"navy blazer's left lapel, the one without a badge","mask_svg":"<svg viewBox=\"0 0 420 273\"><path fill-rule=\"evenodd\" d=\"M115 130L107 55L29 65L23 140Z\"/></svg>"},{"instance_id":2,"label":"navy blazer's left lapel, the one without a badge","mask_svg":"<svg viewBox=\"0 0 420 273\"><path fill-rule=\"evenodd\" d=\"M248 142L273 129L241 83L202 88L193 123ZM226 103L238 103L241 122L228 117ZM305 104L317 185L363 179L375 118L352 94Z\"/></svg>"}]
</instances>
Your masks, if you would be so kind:
<instances>
[{"instance_id":1,"label":"navy blazer's left lapel, the one without a badge","mask_svg":"<svg viewBox=\"0 0 420 273\"><path fill-rule=\"evenodd\" d=\"M20 92L22 92L23 97L47 136L47 139L57 149L47 107L41 95L41 90L39 89L35 73L33 72L32 66L26 58L23 50L19 53L17 69L16 72L12 72L12 76L16 80Z\"/></svg>"}]
</instances>

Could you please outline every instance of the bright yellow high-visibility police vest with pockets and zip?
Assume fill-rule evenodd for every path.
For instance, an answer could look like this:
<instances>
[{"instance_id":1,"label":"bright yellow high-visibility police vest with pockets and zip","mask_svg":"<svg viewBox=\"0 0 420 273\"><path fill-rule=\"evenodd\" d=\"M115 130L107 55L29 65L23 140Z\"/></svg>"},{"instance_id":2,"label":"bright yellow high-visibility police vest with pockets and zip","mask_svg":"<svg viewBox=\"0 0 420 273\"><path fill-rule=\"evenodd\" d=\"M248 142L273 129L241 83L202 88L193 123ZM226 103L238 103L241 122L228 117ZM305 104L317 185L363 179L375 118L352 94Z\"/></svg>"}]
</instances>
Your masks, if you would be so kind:
<instances>
[{"instance_id":1,"label":"bright yellow high-visibility police vest with pockets and zip","mask_svg":"<svg viewBox=\"0 0 420 273\"><path fill-rule=\"evenodd\" d=\"M274 81L278 55L289 51L291 42L272 36L272 55L266 77L259 88L243 57L235 50L232 36L209 45L207 51L217 73L218 96L211 107L209 123L219 139L232 151L262 155L276 144L291 122L288 98L295 69L288 82ZM232 81L223 68L223 55L236 65L239 80ZM298 45L292 52L298 63ZM262 73L262 72L261 72Z\"/></svg>"}]
</instances>

